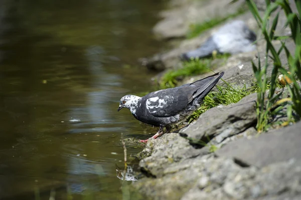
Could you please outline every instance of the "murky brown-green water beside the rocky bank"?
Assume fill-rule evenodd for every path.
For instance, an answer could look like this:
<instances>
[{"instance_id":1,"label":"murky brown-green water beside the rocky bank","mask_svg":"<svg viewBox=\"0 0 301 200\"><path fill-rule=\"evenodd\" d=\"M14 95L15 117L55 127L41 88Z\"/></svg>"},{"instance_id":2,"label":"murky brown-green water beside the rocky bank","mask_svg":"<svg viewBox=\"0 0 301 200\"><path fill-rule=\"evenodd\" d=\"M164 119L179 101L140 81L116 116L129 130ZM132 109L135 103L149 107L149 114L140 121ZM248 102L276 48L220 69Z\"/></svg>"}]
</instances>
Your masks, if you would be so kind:
<instances>
[{"instance_id":1,"label":"murky brown-green water beside the rocky bank","mask_svg":"<svg viewBox=\"0 0 301 200\"><path fill-rule=\"evenodd\" d=\"M135 65L161 48L150 32L160 10L153 0L0 2L1 199L49 199L51 188L56 199L121 199L120 133L157 129L117 108L152 89L154 74Z\"/></svg>"}]
</instances>

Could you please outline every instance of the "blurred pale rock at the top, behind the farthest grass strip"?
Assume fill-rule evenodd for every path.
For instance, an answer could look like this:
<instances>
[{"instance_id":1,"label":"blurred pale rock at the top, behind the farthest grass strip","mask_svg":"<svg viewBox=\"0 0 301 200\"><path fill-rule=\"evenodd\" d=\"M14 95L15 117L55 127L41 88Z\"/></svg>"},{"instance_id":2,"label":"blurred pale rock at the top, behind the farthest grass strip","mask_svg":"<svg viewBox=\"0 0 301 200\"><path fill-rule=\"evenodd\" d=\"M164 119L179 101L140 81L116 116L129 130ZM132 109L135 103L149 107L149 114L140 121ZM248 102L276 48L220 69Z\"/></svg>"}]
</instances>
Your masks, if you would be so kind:
<instances>
[{"instance_id":1,"label":"blurred pale rock at the top, behind the farthest grass strip","mask_svg":"<svg viewBox=\"0 0 301 200\"><path fill-rule=\"evenodd\" d=\"M161 16L165 17L155 25L153 32L159 39L168 40L184 38L192 24L202 24L210 19L222 19L237 13L245 3L239 1L229 7L228 0L190 1L181 7L165 11Z\"/></svg>"}]
</instances>

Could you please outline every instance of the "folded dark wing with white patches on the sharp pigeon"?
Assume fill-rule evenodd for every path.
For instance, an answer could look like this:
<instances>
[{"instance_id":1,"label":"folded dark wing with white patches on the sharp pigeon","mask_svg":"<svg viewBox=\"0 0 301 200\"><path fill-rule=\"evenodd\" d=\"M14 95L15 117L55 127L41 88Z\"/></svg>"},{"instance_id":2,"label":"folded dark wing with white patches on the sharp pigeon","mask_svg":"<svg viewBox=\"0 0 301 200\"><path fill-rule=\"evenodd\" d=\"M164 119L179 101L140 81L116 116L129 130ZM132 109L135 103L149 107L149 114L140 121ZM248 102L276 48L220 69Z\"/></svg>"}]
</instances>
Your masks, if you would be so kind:
<instances>
[{"instance_id":1,"label":"folded dark wing with white patches on the sharp pigeon","mask_svg":"<svg viewBox=\"0 0 301 200\"><path fill-rule=\"evenodd\" d=\"M191 101L196 86L190 84L152 92L144 96L146 109L155 117L171 117L179 114Z\"/></svg>"}]
</instances>

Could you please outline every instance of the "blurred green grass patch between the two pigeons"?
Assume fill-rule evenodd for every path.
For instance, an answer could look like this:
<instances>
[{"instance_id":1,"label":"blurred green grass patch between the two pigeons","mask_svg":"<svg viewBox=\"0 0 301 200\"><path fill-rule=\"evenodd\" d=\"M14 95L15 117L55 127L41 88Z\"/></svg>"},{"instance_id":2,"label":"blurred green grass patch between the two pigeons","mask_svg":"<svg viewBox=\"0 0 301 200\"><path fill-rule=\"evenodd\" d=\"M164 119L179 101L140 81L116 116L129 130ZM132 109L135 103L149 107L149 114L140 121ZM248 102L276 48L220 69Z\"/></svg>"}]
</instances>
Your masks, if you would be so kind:
<instances>
[{"instance_id":1,"label":"blurred green grass patch between the two pigeons","mask_svg":"<svg viewBox=\"0 0 301 200\"><path fill-rule=\"evenodd\" d=\"M178 82L185 77L204 74L211 71L213 67L212 61L215 59L223 59L224 62L230 57L230 54L218 54L212 58L205 59L192 59L190 61L183 62L183 68L178 70L170 70L163 75L160 80L160 88L172 88L176 87Z\"/></svg>"}]
</instances>

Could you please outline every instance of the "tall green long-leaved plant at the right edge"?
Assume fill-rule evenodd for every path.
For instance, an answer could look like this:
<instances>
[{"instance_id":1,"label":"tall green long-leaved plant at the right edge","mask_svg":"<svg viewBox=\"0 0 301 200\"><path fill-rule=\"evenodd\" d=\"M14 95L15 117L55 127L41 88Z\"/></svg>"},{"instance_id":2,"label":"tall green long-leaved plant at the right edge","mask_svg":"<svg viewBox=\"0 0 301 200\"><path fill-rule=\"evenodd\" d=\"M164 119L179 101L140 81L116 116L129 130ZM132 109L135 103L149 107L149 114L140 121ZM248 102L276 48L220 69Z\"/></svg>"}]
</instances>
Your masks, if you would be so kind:
<instances>
[{"instance_id":1,"label":"tall green long-leaved plant at the right edge","mask_svg":"<svg viewBox=\"0 0 301 200\"><path fill-rule=\"evenodd\" d=\"M268 119L271 114L271 110L273 110L274 105L276 104L281 93L275 95L275 88L277 87L277 74L282 73L284 76L287 76L291 81L291 86L286 84L287 89L289 90L290 99L291 100L291 108L287 109L287 115L292 115L292 110L294 110L299 116L301 116L301 91L300 86L297 83L297 79L301 78L301 22L299 16L301 15L301 1L295 0L295 4L297 6L298 15L293 13L289 2L287 0L277 0L274 3L271 3L270 0L266 0L266 10L264 16L261 17L259 15L258 9L253 0L246 0L249 10L253 14L259 28L261 29L264 40L266 41L266 57L265 61L262 64L260 61L260 57L258 56L258 64L255 65L252 62L253 71L260 87L260 91L257 96L257 130L259 132L265 131ZM287 18L286 25L289 26L291 30L291 39L295 43L295 54L292 55L287 47L285 46L284 39L286 37L275 36L275 29L278 23L279 12L276 14L275 18L272 21L272 25L269 28L269 20L271 15L277 11L278 8L281 8L285 16ZM280 40L281 47L279 50L276 50L274 45L272 44L273 40ZM288 62L288 68L291 73L287 73L287 70L282 66L279 55L282 51L285 51L285 55ZM272 59L272 63L268 63L268 58ZM267 68L272 67L272 76L270 80L270 88L266 97L266 86L268 84L267 77ZM296 76L295 76L296 75ZM267 99L267 100L266 100ZM283 105L277 107L277 110L281 110ZM290 112L290 113L289 113Z\"/></svg>"}]
</instances>

